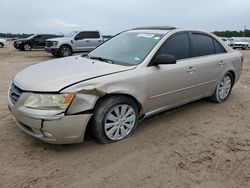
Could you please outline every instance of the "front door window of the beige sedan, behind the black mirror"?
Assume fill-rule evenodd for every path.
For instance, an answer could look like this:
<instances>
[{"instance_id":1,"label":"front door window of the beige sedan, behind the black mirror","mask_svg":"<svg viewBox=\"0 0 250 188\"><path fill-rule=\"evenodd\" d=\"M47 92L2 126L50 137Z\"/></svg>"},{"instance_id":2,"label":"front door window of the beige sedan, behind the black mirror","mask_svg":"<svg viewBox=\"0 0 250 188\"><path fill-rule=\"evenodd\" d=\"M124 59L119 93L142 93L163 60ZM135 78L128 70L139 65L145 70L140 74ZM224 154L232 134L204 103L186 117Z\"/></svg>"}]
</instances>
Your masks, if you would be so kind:
<instances>
[{"instance_id":1,"label":"front door window of the beige sedan, behind the black mirror","mask_svg":"<svg viewBox=\"0 0 250 188\"><path fill-rule=\"evenodd\" d=\"M167 40L160 48L158 54L171 54L177 60L190 57L190 44L187 33L180 33Z\"/></svg>"}]
</instances>

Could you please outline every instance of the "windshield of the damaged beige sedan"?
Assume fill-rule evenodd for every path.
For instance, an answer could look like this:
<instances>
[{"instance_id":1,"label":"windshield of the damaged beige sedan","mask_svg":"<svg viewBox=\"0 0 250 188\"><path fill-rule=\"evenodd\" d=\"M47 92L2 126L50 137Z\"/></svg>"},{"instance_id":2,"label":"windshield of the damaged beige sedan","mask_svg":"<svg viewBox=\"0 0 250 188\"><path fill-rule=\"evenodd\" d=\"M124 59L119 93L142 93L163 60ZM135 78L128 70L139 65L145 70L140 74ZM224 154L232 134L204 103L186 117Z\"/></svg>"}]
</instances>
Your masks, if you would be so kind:
<instances>
[{"instance_id":1,"label":"windshield of the damaged beige sedan","mask_svg":"<svg viewBox=\"0 0 250 188\"><path fill-rule=\"evenodd\" d=\"M163 36L156 33L125 32L100 45L88 57L123 65L138 65Z\"/></svg>"}]
</instances>

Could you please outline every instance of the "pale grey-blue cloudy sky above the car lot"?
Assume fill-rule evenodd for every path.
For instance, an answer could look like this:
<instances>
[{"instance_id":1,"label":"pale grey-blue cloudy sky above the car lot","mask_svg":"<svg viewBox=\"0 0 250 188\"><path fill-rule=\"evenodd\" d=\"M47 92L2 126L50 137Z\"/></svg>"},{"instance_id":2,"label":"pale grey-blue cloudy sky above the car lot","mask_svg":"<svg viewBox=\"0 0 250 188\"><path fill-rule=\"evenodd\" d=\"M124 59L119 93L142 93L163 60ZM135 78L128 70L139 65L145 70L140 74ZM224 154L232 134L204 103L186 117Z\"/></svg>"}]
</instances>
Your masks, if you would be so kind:
<instances>
[{"instance_id":1,"label":"pale grey-blue cloudy sky above the car lot","mask_svg":"<svg viewBox=\"0 0 250 188\"><path fill-rule=\"evenodd\" d=\"M250 0L0 0L0 32L116 34L139 26L250 28Z\"/></svg>"}]
</instances>

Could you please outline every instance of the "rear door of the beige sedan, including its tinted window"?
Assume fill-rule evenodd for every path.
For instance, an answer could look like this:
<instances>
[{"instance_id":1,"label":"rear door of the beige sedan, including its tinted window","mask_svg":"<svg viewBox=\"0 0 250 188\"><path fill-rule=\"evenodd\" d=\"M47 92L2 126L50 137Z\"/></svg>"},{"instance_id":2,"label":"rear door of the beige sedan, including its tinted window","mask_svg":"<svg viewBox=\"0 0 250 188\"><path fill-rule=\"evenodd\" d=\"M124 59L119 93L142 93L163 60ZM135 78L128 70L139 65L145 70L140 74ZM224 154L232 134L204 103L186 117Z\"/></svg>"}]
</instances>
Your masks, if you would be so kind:
<instances>
[{"instance_id":1,"label":"rear door of the beige sedan, including its tinted window","mask_svg":"<svg viewBox=\"0 0 250 188\"><path fill-rule=\"evenodd\" d=\"M224 70L226 50L210 35L190 32L191 59L195 69L197 97L211 95Z\"/></svg>"}]
</instances>

